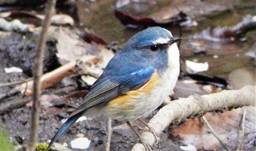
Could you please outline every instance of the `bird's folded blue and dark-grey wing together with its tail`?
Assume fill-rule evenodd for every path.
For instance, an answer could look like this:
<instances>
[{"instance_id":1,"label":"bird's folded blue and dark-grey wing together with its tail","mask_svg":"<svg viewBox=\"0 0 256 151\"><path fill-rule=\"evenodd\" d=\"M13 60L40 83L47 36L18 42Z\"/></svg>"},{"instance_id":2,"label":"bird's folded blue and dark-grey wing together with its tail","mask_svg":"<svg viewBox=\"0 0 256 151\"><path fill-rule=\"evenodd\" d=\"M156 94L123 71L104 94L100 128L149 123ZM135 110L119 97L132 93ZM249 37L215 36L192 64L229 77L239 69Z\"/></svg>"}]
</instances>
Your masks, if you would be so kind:
<instances>
[{"instance_id":1,"label":"bird's folded blue and dark-grey wing together with its tail","mask_svg":"<svg viewBox=\"0 0 256 151\"><path fill-rule=\"evenodd\" d=\"M131 74L125 74L122 76L108 76L108 74L102 74L97 82L95 82L91 87L91 90L86 95L78 109L69 115L67 120L63 125L61 125L61 128L59 128L56 135L53 136L48 149L62 134L67 131L71 125L73 125L73 123L75 123L76 120L78 120L80 116L83 115L84 112L86 112L87 109L107 104L113 98L124 95L129 90L136 90L142 87L151 79L152 74L154 74L153 66L141 68L137 71L133 71Z\"/></svg>"}]
</instances>

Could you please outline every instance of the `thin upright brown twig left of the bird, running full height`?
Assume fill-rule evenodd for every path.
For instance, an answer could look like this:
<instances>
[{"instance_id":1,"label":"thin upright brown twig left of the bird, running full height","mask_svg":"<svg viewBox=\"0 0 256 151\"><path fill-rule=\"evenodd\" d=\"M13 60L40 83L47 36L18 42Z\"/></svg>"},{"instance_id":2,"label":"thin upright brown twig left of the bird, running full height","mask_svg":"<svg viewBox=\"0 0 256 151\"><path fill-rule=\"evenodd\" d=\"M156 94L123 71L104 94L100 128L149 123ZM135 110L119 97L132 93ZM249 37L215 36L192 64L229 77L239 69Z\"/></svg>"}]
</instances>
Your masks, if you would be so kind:
<instances>
[{"instance_id":1,"label":"thin upright brown twig left of the bird, running full height","mask_svg":"<svg viewBox=\"0 0 256 151\"><path fill-rule=\"evenodd\" d=\"M29 138L29 150L34 151L37 143L37 133L39 127L39 98L41 96L41 82L40 78L42 76L42 61L44 58L44 47L46 42L46 34L48 31L48 26L50 25L50 18L55 12L56 0L47 1L45 20L42 23L42 31L39 35L37 42L37 53L34 60L34 99L31 112L31 129Z\"/></svg>"}]
</instances>

